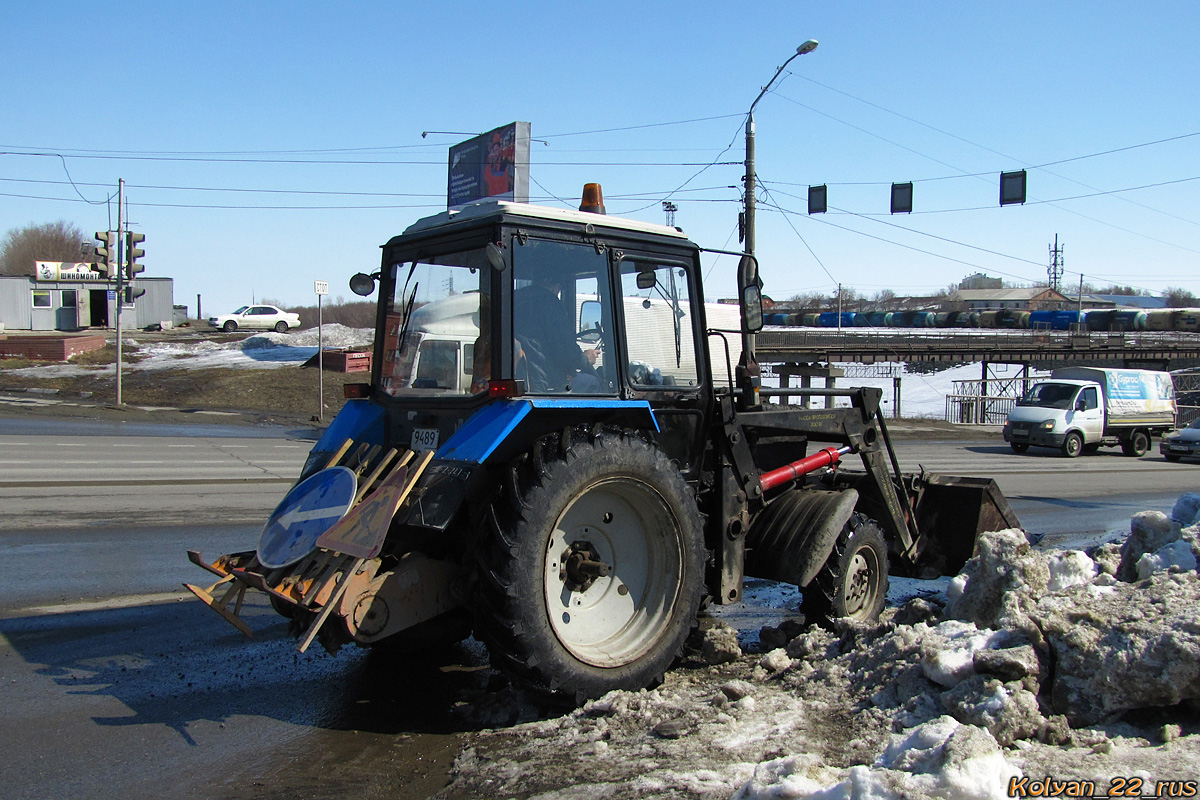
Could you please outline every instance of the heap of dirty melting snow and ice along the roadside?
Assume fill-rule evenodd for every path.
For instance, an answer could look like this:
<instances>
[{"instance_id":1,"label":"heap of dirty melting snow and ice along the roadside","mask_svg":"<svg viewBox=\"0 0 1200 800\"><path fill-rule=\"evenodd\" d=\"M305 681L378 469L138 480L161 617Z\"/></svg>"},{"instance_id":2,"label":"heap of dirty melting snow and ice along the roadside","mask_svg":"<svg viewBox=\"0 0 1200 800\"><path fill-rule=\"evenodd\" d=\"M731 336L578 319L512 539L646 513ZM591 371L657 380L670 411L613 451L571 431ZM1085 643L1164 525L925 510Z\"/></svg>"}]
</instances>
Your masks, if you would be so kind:
<instances>
[{"instance_id":1,"label":"heap of dirty melting snow and ice along the roadside","mask_svg":"<svg viewBox=\"0 0 1200 800\"><path fill-rule=\"evenodd\" d=\"M1022 776L1102 794L1135 771L1190 780L1200 735L1176 721L1194 728L1181 709L1200 702L1198 512L1186 495L1087 553L985 534L944 595L872 625L764 630L786 640L766 652L716 626L656 690L474 734L445 796L983 799ZM499 704L509 724L538 716L518 698ZM1122 721L1181 703L1157 711L1168 724ZM494 722L494 694L462 708Z\"/></svg>"}]
</instances>

